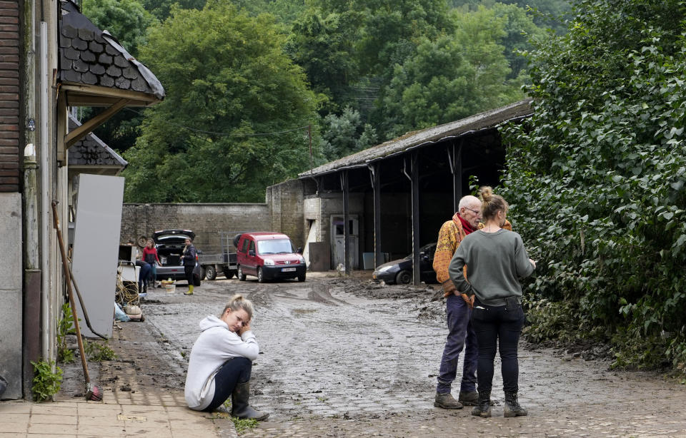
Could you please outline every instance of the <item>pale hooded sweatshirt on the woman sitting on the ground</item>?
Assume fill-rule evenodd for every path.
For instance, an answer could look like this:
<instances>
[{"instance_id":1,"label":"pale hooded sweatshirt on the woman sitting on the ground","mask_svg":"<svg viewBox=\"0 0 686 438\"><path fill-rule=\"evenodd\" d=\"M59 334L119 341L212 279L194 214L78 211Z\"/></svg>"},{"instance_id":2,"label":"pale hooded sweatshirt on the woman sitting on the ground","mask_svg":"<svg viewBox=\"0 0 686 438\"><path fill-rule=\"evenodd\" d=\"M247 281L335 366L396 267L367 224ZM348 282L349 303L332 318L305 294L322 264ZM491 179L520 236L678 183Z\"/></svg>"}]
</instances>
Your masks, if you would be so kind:
<instances>
[{"instance_id":1,"label":"pale hooded sweatshirt on the woman sitting on the ground","mask_svg":"<svg viewBox=\"0 0 686 438\"><path fill-rule=\"evenodd\" d=\"M214 398L214 376L224 362L232 357L257 359L259 345L252 331L242 336L229 330L226 322L216 316L200 321L202 333L195 341L188 361L186 402L188 407L202 411Z\"/></svg>"}]
</instances>

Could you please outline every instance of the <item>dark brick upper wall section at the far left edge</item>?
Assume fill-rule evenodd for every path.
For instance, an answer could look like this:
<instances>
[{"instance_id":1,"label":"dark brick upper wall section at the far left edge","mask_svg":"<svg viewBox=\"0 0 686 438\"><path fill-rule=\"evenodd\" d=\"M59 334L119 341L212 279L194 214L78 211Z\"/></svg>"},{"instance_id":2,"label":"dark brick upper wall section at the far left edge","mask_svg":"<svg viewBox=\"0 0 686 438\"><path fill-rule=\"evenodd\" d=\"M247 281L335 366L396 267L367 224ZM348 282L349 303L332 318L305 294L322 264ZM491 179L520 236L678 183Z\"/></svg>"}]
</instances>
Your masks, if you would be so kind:
<instances>
[{"instance_id":1,"label":"dark brick upper wall section at the far left edge","mask_svg":"<svg viewBox=\"0 0 686 438\"><path fill-rule=\"evenodd\" d=\"M0 1L0 192L19 191L19 1Z\"/></svg>"}]
</instances>

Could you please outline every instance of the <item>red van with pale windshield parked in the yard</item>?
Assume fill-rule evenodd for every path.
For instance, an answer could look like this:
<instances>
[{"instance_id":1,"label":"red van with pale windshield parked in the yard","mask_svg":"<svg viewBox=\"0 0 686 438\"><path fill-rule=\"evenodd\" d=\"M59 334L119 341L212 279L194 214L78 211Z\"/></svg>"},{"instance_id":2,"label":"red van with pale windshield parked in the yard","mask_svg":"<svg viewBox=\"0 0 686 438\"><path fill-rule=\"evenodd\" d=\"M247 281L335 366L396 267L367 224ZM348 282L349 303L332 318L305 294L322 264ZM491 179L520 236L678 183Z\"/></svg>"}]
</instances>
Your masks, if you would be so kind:
<instances>
[{"instance_id":1,"label":"red van with pale windshield parked in the yard","mask_svg":"<svg viewBox=\"0 0 686 438\"><path fill-rule=\"evenodd\" d=\"M242 233L234 240L238 263L238 279L248 275L265 282L274 278L297 278L305 281L305 259L287 235L282 233Z\"/></svg>"}]
</instances>

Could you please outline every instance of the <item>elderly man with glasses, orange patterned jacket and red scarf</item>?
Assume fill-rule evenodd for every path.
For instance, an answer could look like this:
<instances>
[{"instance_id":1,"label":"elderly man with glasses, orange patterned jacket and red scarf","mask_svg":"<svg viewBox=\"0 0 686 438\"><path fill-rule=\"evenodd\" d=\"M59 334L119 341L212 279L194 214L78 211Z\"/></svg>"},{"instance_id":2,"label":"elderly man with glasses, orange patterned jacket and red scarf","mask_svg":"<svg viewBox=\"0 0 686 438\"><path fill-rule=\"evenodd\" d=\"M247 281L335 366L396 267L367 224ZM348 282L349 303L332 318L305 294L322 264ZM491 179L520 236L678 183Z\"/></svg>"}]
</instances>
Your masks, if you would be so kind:
<instances>
[{"instance_id":1,"label":"elderly man with glasses, orange patterned jacket and red scarf","mask_svg":"<svg viewBox=\"0 0 686 438\"><path fill-rule=\"evenodd\" d=\"M443 286L449 332L441 359L434 406L443 409L462 409L464 404L473 406L479 401L476 387L479 348L471 322L471 301L466 296L462 297L452 284L448 274L448 265L462 239L483 226L479 223L480 220L481 201L475 196L467 195L459 200L457 213L443 224L438 233L433 267L437 280ZM503 228L512 230L509 222L505 223ZM462 350L464 350L462 383L456 400L451 394L451 387L457 377L457 361Z\"/></svg>"}]
</instances>

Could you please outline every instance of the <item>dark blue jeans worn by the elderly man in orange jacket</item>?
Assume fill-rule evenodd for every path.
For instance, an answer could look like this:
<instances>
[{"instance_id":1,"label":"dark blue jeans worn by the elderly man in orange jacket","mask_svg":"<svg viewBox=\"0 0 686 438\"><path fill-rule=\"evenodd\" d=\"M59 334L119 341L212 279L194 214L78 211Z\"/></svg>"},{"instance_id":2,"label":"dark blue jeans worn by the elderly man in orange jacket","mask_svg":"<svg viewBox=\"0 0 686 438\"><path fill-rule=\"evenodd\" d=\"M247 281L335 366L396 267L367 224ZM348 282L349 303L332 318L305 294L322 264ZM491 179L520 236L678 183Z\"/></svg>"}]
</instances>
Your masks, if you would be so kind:
<instances>
[{"instance_id":1,"label":"dark blue jeans worn by the elderly man in orange jacket","mask_svg":"<svg viewBox=\"0 0 686 438\"><path fill-rule=\"evenodd\" d=\"M441 359L436 392L446 394L450 392L453 380L457 376L457 360L459 353L464 350L464 365L462 366L462 384L460 392L476 390L477 383L477 337L472 327L472 309L462 297L448 295L446 299L448 337Z\"/></svg>"}]
</instances>

